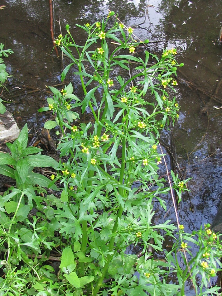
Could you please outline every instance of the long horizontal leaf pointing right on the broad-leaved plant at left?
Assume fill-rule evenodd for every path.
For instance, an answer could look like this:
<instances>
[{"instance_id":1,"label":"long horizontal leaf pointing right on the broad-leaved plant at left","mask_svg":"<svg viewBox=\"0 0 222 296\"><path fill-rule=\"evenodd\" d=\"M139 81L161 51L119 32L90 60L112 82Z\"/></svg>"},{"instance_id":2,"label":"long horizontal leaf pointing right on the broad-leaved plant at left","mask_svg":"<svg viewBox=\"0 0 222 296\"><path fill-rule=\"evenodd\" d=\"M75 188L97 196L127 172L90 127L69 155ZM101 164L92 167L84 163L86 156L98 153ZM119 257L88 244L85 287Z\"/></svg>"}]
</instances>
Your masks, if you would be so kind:
<instances>
[{"instance_id":1,"label":"long horizontal leaf pointing right on the broad-leaved plant at left","mask_svg":"<svg viewBox=\"0 0 222 296\"><path fill-rule=\"evenodd\" d=\"M29 155L25 157L25 160L27 161L28 165L33 166L33 167L41 167L45 168L47 166L57 168L59 166L58 162L48 156L48 155L41 155L41 154L36 154L36 155Z\"/></svg>"}]
</instances>

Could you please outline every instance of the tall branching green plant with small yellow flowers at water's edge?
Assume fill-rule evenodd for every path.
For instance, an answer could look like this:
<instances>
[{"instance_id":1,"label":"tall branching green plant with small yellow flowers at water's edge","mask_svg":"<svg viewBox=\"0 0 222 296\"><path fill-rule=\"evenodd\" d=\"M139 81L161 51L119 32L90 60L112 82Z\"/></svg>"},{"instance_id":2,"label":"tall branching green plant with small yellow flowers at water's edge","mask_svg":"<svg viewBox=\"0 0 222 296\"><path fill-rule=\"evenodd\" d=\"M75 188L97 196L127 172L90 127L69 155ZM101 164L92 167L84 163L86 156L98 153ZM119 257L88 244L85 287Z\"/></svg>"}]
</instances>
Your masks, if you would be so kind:
<instances>
[{"instance_id":1,"label":"tall branching green plant with small yellow flowers at water's edge","mask_svg":"<svg viewBox=\"0 0 222 296\"><path fill-rule=\"evenodd\" d=\"M67 34L56 39L71 60L62 80L75 65L84 96L73 95L71 83L61 91L49 87L53 98L40 109L56 114L56 121L46 125L60 127L58 150L64 159L51 176L64 187L52 219L63 241L60 290L66 295L183 296L186 280L191 277L195 282L198 274L204 280L200 288L195 282L194 289L196 295L203 295L203 287L218 268L215 262L219 260L212 254L218 255L219 241L205 243L209 241L205 232L195 240L181 226L166 261L154 260L150 253L150 247L163 251L164 236L174 237L176 229L169 220L155 225L152 218L154 203L166 210L164 195L170 188L157 173L164 157L158 137L179 117L173 93L176 69L183 64L177 63L174 48L164 50L160 57L149 53L147 42L136 41L133 28L117 18L108 29L110 16L113 12L102 22L76 25L86 35L84 45L76 44L69 25ZM91 113L88 123L74 121L77 107ZM173 177L181 195L186 190L181 184L187 180L181 183ZM197 255L189 251L189 242L199 247ZM204 258L202 244L206 245ZM132 246L137 251L129 251ZM185 270L177 259L180 249L192 258L189 261L181 252ZM177 284L170 280L174 273ZM217 289L211 287L208 293Z\"/></svg>"}]
</instances>

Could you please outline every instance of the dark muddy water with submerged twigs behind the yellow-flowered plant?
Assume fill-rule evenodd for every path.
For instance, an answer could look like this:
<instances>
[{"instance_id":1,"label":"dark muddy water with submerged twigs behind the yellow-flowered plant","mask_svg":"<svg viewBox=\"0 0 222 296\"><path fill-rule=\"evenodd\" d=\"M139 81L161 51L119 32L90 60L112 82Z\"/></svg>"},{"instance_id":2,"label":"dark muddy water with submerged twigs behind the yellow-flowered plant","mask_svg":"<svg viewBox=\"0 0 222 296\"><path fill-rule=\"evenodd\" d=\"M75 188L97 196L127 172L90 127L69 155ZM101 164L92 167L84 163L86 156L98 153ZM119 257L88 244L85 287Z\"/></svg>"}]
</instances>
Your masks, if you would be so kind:
<instances>
[{"instance_id":1,"label":"dark muddy water with submerged twigs behind the yellow-flowered plant","mask_svg":"<svg viewBox=\"0 0 222 296\"><path fill-rule=\"evenodd\" d=\"M0 42L14 51L6 61L12 73L9 93L3 92L7 109L20 127L28 122L39 128L46 120L37 112L46 102L45 85L60 84L63 68L61 57L51 52L48 1L2 0L1 5L6 7L0 10ZM83 40L75 23L99 20L108 8L140 39L150 40L148 50L177 47L177 59L185 64L178 72L180 118L162 137L173 141L184 178L193 177L178 214L186 230L196 229L213 220L222 201L222 109L214 108L222 106L221 0L54 0L55 35L60 17L62 33L69 23L75 39ZM78 81L73 82L78 93ZM175 221L171 204L169 198L165 218Z\"/></svg>"}]
</instances>

